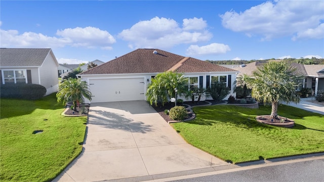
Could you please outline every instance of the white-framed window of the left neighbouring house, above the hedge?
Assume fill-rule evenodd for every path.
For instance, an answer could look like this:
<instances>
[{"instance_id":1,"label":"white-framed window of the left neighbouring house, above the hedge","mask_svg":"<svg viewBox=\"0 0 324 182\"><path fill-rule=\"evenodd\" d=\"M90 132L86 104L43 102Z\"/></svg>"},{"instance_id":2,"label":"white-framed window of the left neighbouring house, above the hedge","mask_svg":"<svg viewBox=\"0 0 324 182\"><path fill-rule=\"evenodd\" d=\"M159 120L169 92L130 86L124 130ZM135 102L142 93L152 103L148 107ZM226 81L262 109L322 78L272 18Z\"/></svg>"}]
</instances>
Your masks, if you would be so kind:
<instances>
[{"instance_id":1,"label":"white-framed window of the left neighbouring house, above the hedge","mask_svg":"<svg viewBox=\"0 0 324 182\"><path fill-rule=\"evenodd\" d=\"M2 70L4 84L27 83L26 70Z\"/></svg>"}]
</instances>

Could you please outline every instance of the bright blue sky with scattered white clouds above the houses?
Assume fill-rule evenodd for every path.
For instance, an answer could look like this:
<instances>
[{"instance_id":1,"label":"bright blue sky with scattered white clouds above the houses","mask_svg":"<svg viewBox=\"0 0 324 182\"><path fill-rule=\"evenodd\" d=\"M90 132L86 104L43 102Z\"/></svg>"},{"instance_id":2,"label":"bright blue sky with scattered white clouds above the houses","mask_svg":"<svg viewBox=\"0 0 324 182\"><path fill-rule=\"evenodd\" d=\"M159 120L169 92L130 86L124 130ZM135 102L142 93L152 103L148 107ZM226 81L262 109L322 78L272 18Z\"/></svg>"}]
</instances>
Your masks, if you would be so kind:
<instances>
[{"instance_id":1,"label":"bright blue sky with scattered white clouds above the houses","mask_svg":"<svg viewBox=\"0 0 324 182\"><path fill-rule=\"evenodd\" d=\"M201 60L324 58L324 1L1 1L0 46L59 63L138 48Z\"/></svg>"}]
</instances>

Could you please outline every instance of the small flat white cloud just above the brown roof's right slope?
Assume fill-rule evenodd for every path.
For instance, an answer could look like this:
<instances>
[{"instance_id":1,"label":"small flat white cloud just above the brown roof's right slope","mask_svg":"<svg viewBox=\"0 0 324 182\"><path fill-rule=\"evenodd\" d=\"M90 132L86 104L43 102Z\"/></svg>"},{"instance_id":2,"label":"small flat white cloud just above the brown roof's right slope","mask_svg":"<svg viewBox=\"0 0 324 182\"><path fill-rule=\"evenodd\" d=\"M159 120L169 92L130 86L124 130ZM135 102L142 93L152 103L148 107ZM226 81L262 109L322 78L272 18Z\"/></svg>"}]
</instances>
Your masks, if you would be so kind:
<instances>
[{"instance_id":1,"label":"small flat white cloud just above the brown roof's right slope","mask_svg":"<svg viewBox=\"0 0 324 182\"><path fill-rule=\"evenodd\" d=\"M191 45L187 49L188 55L204 55L204 54L224 54L227 51L230 51L228 45L225 44L218 44L218 43L212 43L207 46L197 46L197 45Z\"/></svg>"}]
</instances>

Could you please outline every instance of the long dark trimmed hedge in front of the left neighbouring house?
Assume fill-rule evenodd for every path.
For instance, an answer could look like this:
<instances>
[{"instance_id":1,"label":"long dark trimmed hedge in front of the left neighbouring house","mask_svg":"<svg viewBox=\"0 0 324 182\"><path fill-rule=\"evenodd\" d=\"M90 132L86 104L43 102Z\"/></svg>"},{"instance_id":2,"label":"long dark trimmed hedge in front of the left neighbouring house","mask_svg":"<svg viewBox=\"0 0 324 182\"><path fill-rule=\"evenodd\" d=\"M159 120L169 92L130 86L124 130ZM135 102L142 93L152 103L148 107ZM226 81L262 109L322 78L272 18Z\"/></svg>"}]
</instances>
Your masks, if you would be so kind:
<instances>
[{"instance_id":1,"label":"long dark trimmed hedge in front of the left neighbouring house","mask_svg":"<svg viewBox=\"0 0 324 182\"><path fill-rule=\"evenodd\" d=\"M37 100L46 94L46 88L37 84L1 85L1 98Z\"/></svg>"}]
</instances>

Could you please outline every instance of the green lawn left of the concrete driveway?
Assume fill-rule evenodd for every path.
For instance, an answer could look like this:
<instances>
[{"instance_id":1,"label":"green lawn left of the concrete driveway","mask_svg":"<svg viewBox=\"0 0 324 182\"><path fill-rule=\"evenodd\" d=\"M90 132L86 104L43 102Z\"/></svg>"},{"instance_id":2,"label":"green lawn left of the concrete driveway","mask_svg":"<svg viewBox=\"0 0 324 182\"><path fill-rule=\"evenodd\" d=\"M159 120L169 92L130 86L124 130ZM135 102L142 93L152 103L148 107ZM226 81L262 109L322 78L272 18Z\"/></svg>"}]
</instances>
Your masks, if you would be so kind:
<instances>
[{"instance_id":1,"label":"green lawn left of the concrete driveway","mask_svg":"<svg viewBox=\"0 0 324 182\"><path fill-rule=\"evenodd\" d=\"M61 116L55 94L1 99L0 107L0 181L49 181L82 151L87 117Z\"/></svg>"}]
</instances>

